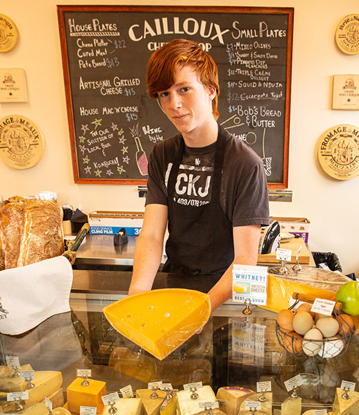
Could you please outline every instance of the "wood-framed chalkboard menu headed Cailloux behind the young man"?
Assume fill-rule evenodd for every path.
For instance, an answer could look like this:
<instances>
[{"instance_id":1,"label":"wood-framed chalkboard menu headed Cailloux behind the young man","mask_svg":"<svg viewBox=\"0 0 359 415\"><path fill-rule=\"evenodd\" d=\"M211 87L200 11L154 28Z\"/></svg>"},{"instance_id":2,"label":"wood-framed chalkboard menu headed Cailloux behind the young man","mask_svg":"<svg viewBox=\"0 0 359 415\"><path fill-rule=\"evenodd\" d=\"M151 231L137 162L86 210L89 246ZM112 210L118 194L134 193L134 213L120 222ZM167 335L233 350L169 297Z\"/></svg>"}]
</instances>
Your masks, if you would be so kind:
<instances>
[{"instance_id":1,"label":"wood-framed chalkboard menu headed Cailloux behind the young man","mask_svg":"<svg viewBox=\"0 0 359 415\"><path fill-rule=\"evenodd\" d=\"M146 184L177 131L146 93L151 53L195 40L217 63L218 122L288 184L293 8L57 6L76 183Z\"/></svg>"}]
</instances>

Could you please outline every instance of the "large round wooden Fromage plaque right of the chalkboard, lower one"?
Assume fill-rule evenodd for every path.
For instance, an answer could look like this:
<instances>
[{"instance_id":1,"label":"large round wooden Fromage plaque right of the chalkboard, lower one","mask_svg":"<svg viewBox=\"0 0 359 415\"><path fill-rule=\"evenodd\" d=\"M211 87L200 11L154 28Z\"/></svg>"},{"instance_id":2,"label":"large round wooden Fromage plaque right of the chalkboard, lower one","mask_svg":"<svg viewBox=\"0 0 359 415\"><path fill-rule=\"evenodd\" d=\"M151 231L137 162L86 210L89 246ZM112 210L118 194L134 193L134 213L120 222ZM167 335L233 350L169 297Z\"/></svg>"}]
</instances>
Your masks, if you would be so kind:
<instances>
[{"instance_id":1,"label":"large round wooden Fromage plaque right of the chalkboard, lower one","mask_svg":"<svg viewBox=\"0 0 359 415\"><path fill-rule=\"evenodd\" d=\"M339 124L320 136L319 163L327 174L338 180L359 175L359 127Z\"/></svg>"}]
</instances>

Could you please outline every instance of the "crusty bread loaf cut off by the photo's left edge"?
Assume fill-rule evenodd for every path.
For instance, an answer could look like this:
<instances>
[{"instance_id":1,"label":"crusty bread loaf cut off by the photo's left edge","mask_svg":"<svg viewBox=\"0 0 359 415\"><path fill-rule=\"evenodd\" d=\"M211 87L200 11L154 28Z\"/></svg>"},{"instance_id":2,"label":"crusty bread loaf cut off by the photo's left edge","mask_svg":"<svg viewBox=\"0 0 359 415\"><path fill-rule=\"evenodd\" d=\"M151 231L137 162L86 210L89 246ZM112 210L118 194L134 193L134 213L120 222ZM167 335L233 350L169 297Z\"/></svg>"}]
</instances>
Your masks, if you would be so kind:
<instances>
[{"instance_id":1,"label":"crusty bread loaf cut off by the photo's left edge","mask_svg":"<svg viewBox=\"0 0 359 415\"><path fill-rule=\"evenodd\" d=\"M20 250L20 234L23 219L23 203L7 203L0 209L2 260L3 268L17 267ZM0 268L1 269L1 268Z\"/></svg>"}]
</instances>

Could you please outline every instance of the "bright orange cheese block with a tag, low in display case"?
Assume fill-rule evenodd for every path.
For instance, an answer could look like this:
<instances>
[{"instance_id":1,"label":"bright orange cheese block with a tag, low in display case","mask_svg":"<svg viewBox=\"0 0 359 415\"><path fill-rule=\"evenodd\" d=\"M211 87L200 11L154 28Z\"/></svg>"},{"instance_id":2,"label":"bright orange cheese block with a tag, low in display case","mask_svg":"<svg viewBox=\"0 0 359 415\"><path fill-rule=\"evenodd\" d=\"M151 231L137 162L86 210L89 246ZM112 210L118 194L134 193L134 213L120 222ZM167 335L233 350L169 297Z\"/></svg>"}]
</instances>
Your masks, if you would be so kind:
<instances>
[{"instance_id":1,"label":"bright orange cheese block with a tag, low in display case","mask_svg":"<svg viewBox=\"0 0 359 415\"><path fill-rule=\"evenodd\" d=\"M106 382L88 379L89 385L82 386L82 378L76 378L66 389L68 410L71 414L79 414L81 406L96 407L101 414L104 403L101 396L106 395Z\"/></svg>"}]
</instances>

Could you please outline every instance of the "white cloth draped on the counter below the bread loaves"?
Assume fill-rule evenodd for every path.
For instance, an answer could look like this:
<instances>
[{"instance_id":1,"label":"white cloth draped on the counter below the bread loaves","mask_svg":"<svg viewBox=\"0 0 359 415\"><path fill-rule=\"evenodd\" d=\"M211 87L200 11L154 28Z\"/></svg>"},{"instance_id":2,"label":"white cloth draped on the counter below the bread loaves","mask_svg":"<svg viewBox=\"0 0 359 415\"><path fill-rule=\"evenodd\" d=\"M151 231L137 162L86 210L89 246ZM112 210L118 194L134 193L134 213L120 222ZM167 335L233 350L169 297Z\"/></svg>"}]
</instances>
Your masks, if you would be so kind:
<instances>
[{"instance_id":1,"label":"white cloth draped on the counter below the bread loaves","mask_svg":"<svg viewBox=\"0 0 359 415\"><path fill-rule=\"evenodd\" d=\"M70 311L72 267L65 257L0 271L0 333L17 335Z\"/></svg>"}]
</instances>

